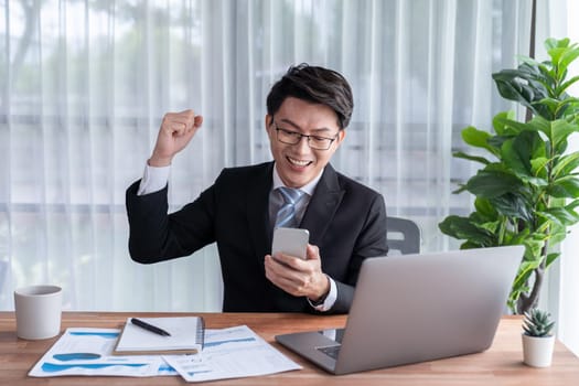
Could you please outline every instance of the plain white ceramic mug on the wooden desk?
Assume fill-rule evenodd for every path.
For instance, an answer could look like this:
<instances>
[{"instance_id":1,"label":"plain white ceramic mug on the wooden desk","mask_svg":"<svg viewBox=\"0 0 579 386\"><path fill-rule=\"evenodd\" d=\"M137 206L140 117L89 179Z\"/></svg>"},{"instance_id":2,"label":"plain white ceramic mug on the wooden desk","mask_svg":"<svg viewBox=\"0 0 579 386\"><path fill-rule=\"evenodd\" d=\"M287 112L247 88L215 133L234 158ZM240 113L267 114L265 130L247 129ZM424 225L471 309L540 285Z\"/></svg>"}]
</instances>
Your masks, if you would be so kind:
<instances>
[{"instance_id":1,"label":"plain white ceramic mug on the wooden desk","mask_svg":"<svg viewBox=\"0 0 579 386\"><path fill-rule=\"evenodd\" d=\"M26 340L56 336L61 332L62 288L29 286L14 291L17 335Z\"/></svg>"}]
</instances>

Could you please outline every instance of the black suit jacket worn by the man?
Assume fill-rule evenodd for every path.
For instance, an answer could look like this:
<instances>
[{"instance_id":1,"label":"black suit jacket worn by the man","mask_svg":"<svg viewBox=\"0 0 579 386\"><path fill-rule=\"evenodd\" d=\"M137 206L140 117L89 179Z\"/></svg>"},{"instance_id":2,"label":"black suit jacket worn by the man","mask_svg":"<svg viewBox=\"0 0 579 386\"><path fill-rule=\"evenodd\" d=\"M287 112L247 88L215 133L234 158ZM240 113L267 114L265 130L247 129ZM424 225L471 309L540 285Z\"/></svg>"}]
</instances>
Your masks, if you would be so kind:
<instances>
[{"instance_id":1,"label":"black suit jacket worn by the man","mask_svg":"<svg viewBox=\"0 0 579 386\"><path fill-rule=\"evenodd\" d=\"M216 242L224 282L223 311L312 312L265 276L271 253L269 192L272 162L224 169L192 203L168 215L167 187L138 196L139 181L127 190L129 251L150 264L187 256ZM350 310L362 261L384 256L386 208L377 192L328 164L303 215L310 244L320 248L322 270L334 279L337 300L331 312Z\"/></svg>"}]
</instances>

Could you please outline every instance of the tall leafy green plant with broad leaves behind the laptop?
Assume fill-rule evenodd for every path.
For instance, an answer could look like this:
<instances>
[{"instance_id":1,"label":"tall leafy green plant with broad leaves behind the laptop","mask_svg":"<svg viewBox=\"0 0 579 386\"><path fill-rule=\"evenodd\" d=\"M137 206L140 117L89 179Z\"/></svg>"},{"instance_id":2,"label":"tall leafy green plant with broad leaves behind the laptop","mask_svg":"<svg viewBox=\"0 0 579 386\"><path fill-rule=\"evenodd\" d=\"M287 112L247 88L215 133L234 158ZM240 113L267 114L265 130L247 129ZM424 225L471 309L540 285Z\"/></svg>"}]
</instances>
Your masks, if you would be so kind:
<instances>
[{"instance_id":1,"label":"tall leafy green plant with broad leaves behind the laptop","mask_svg":"<svg viewBox=\"0 0 579 386\"><path fill-rule=\"evenodd\" d=\"M525 107L528 117L518 121L512 111L500 112L494 133L462 130L464 142L479 153L453 156L482 168L454 193L472 193L474 210L439 224L443 234L464 240L461 248L525 246L508 298L518 314L536 307L545 271L559 257L554 247L579 222L579 151L567 149L569 136L579 132L579 99L567 94L579 81L567 78L579 46L548 39L545 47L549 61L523 57L517 69L493 74L501 96Z\"/></svg>"}]
</instances>

